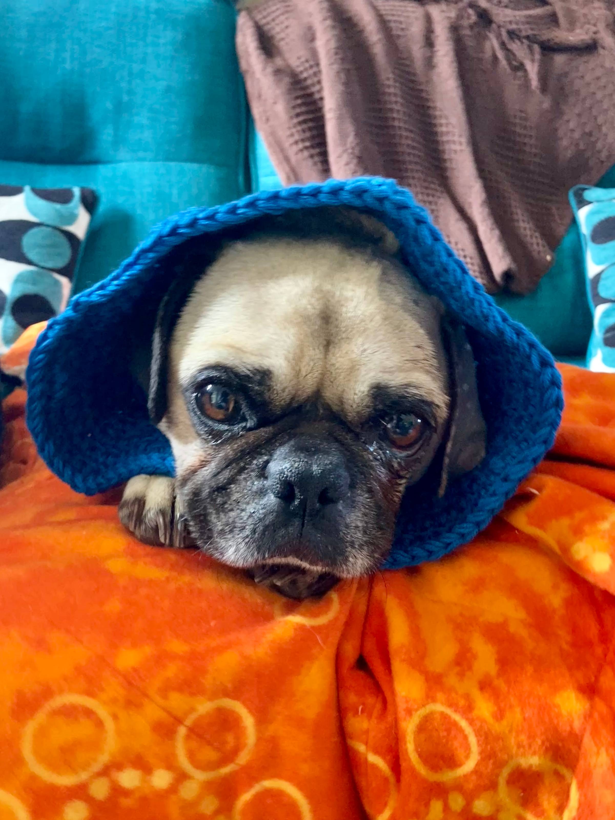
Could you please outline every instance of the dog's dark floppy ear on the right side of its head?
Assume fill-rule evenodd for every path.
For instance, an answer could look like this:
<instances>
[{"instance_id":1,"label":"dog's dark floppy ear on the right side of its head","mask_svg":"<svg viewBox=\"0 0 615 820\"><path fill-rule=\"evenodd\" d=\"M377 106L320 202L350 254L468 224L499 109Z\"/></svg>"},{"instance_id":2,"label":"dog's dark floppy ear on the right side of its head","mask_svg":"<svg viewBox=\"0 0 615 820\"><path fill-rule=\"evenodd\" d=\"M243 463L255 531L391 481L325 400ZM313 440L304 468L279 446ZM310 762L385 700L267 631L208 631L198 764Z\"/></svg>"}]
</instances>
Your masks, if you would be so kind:
<instances>
[{"instance_id":1,"label":"dog's dark floppy ear on the right side of its head","mask_svg":"<svg viewBox=\"0 0 615 820\"><path fill-rule=\"evenodd\" d=\"M440 498L449 479L478 467L485 458L487 444L487 427L476 385L476 362L466 332L457 321L443 317L442 335L449 357L451 408L440 476Z\"/></svg>"}]
</instances>

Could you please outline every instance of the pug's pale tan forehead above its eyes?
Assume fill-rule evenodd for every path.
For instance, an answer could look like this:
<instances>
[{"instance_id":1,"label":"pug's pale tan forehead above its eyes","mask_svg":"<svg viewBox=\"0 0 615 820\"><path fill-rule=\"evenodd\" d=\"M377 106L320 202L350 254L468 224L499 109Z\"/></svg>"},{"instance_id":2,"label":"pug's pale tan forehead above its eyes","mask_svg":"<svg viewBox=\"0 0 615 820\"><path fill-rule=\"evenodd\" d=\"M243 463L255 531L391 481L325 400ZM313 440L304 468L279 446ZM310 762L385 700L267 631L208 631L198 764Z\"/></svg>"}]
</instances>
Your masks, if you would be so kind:
<instances>
[{"instance_id":1,"label":"pug's pale tan forehead above its eyes","mask_svg":"<svg viewBox=\"0 0 615 820\"><path fill-rule=\"evenodd\" d=\"M188 385L214 365L268 371L279 408L318 396L352 419L385 385L447 409L435 302L398 262L325 239L236 243L208 268L175 327L171 367Z\"/></svg>"}]
</instances>

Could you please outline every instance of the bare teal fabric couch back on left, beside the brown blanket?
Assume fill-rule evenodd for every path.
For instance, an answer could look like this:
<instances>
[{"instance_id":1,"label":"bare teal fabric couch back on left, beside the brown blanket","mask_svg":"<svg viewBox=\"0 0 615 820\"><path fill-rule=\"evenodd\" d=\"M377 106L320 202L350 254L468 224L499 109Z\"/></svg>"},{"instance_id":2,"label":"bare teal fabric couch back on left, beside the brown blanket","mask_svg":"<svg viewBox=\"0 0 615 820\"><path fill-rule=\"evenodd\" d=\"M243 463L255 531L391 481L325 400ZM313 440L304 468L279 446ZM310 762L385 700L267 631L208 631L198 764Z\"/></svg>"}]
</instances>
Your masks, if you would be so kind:
<instances>
[{"instance_id":1,"label":"bare teal fabric couch back on left, beside the brown blanket","mask_svg":"<svg viewBox=\"0 0 615 820\"><path fill-rule=\"evenodd\" d=\"M247 193L230 0L3 0L0 184L88 186L75 291L150 227Z\"/></svg>"}]
</instances>

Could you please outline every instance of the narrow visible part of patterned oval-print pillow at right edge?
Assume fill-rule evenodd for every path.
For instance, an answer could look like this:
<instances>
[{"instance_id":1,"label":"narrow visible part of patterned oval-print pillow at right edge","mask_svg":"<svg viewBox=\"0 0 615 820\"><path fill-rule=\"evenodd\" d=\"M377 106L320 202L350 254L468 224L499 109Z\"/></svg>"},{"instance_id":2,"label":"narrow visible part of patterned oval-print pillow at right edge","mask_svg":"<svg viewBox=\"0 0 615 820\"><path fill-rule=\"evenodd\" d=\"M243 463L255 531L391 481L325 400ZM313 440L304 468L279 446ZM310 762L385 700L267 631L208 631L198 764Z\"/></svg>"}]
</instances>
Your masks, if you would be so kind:
<instances>
[{"instance_id":1,"label":"narrow visible part of patterned oval-print pillow at right edge","mask_svg":"<svg viewBox=\"0 0 615 820\"><path fill-rule=\"evenodd\" d=\"M587 295L594 314L587 367L615 373L615 189L576 185L570 201L583 239Z\"/></svg>"}]
</instances>

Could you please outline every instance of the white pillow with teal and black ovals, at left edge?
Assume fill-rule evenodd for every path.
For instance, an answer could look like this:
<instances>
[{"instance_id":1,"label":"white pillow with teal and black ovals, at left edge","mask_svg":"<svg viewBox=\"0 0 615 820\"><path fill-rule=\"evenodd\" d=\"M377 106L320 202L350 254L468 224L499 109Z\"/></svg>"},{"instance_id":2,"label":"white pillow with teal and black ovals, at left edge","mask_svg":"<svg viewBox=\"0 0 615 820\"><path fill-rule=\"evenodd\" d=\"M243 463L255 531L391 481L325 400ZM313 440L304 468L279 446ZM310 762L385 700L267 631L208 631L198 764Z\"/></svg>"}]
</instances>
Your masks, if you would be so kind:
<instances>
[{"instance_id":1,"label":"white pillow with teal and black ovals, at left edge","mask_svg":"<svg viewBox=\"0 0 615 820\"><path fill-rule=\"evenodd\" d=\"M0 185L0 354L66 307L96 194Z\"/></svg>"}]
</instances>

